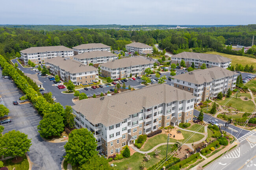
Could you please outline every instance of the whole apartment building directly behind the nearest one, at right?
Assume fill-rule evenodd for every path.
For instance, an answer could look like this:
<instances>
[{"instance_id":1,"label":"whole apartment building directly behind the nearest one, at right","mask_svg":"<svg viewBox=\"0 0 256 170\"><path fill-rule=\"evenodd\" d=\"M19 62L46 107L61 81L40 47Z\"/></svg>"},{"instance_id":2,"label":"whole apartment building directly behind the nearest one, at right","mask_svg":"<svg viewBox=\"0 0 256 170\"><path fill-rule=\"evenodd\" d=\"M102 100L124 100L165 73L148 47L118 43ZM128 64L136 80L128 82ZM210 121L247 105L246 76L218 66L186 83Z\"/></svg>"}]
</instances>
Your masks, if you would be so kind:
<instances>
[{"instance_id":1,"label":"whole apartment building directly behind the nearest one, at right","mask_svg":"<svg viewBox=\"0 0 256 170\"><path fill-rule=\"evenodd\" d=\"M189 91L196 97L195 103L226 94L228 88L236 87L237 73L221 67L197 69L171 77L171 86Z\"/></svg>"}]
</instances>

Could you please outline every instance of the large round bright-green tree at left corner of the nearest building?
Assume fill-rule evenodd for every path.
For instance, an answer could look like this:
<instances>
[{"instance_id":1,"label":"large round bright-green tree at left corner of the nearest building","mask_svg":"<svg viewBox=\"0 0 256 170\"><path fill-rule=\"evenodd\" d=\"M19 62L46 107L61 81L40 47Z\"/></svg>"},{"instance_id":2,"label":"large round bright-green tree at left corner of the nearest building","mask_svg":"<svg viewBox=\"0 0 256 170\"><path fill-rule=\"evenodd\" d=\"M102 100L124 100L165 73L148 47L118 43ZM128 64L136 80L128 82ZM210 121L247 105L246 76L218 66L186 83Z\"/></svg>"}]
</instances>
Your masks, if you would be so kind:
<instances>
[{"instance_id":1,"label":"large round bright-green tree at left corner of the nearest building","mask_svg":"<svg viewBox=\"0 0 256 170\"><path fill-rule=\"evenodd\" d=\"M93 133L87 128L75 129L69 134L69 141L65 144L65 158L72 165L83 165L97 154L97 143Z\"/></svg>"}]
</instances>

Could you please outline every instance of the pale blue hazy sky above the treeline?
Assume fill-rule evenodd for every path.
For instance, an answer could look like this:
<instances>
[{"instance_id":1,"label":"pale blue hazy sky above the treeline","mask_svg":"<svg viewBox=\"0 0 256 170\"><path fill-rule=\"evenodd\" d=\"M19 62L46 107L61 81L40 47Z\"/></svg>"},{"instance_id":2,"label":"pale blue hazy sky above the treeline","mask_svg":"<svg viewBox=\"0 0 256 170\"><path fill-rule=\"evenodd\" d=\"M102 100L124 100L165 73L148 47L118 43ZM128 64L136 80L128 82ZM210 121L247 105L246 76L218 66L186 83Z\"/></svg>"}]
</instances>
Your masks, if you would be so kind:
<instances>
[{"instance_id":1,"label":"pale blue hazy sky above the treeline","mask_svg":"<svg viewBox=\"0 0 256 170\"><path fill-rule=\"evenodd\" d=\"M256 24L255 0L1 0L0 6L0 24Z\"/></svg>"}]
</instances>

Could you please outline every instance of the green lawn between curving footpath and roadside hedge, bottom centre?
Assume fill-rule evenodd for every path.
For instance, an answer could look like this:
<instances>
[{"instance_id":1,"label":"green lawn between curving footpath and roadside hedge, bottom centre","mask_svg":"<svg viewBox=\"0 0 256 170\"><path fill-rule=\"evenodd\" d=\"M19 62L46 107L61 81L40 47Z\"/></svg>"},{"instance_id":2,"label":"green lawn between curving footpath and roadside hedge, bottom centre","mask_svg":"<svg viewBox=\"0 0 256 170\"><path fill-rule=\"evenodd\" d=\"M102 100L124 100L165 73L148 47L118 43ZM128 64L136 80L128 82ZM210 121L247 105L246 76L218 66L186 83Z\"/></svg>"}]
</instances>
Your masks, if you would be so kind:
<instances>
[{"instance_id":1,"label":"green lawn between curving footpath and roadside hedge, bottom centre","mask_svg":"<svg viewBox=\"0 0 256 170\"><path fill-rule=\"evenodd\" d=\"M167 135L166 135L167 136ZM138 170L139 169L139 165L141 165L141 162L143 161L146 165L146 168L149 168L153 165L155 165L156 163L158 163L161 159L163 159L166 156L166 147L167 145L162 145L160 147L158 147L158 150L161 150L158 158L154 157L154 152L149 153L148 155L150 155L151 159L148 162L143 161L143 157L144 154L140 154L138 152L135 152L132 156L126 158L126 159L121 159L118 161L113 161L111 163L113 163L115 169L117 170L124 170L124 166L128 166L129 168L131 168L131 170ZM171 152L171 147L173 145L169 145L168 146L168 153Z\"/></svg>"}]
</instances>

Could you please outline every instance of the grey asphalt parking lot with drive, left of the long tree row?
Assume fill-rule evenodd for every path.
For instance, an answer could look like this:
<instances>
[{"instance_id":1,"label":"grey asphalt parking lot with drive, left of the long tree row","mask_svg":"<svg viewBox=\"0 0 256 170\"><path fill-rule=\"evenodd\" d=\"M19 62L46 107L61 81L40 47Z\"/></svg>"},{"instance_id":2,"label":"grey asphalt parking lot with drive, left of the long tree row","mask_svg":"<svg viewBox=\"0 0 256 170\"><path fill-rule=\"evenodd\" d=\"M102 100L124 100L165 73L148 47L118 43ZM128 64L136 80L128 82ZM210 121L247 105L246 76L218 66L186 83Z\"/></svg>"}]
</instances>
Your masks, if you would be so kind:
<instances>
[{"instance_id":1,"label":"grey asphalt parking lot with drive, left of the long tree row","mask_svg":"<svg viewBox=\"0 0 256 170\"><path fill-rule=\"evenodd\" d=\"M2 75L2 68L0 70ZM3 124L5 127L3 133L11 130L19 130L32 139L32 146L28 156L32 161L32 170L61 170L61 161L65 155L63 145L65 143L48 143L43 141L37 132L37 125L41 120L37 110L32 104L13 105L12 102L18 100L24 95L12 81L12 79L0 78L0 95L2 101L9 108L9 117L11 123ZM62 147L61 147L62 146Z\"/></svg>"}]
</instances>

